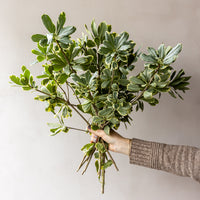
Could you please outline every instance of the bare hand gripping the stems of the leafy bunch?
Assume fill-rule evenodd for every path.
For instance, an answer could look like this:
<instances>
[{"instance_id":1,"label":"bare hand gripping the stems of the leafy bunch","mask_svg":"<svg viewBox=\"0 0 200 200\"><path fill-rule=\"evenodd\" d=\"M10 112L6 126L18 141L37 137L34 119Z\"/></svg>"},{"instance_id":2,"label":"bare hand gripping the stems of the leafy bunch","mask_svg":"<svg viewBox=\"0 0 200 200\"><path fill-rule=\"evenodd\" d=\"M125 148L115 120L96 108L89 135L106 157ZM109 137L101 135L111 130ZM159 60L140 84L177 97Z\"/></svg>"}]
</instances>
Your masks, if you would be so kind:
<instances>
[{"instance_id":1,"label":"bare hand gripping the stems of the leafy bunch","mask_svg":"<svg viewBox=\"0 0 200 200\"><path fill-rule=\"evenodd\" d=\"M111 129L110 135L107 135L104 130L101 129L94 131L89 126L88 130L92 133L91 142L97 142L98 137L101 137L105 142L108 143L109 150L129 155L131 139L122 137L113 129Z\"/></svg>"}]
</instances>

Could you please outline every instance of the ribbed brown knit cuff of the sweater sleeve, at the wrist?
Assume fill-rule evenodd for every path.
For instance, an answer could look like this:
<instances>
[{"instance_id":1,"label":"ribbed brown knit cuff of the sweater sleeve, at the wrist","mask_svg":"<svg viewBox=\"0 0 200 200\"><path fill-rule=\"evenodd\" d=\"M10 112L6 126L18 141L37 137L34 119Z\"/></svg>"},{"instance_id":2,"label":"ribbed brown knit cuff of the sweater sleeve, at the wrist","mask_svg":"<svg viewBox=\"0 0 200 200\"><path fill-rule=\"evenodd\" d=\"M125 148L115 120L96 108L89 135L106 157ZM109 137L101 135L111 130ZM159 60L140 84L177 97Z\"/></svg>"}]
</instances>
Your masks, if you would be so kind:
<instances>
[{"instance_id":1,"label":"ribbed brown knit cuff of the sweater sleeve, at the wrist","mask_svg":"<svg viewBox=\"0 0 200 200\"><path fill-rule=\"evenodd\" d=\"M160 169L160 159L162 159L163 144L131 139L129 154L130 164L141 165L154 169Z\"/></svg>"}]
</instances>

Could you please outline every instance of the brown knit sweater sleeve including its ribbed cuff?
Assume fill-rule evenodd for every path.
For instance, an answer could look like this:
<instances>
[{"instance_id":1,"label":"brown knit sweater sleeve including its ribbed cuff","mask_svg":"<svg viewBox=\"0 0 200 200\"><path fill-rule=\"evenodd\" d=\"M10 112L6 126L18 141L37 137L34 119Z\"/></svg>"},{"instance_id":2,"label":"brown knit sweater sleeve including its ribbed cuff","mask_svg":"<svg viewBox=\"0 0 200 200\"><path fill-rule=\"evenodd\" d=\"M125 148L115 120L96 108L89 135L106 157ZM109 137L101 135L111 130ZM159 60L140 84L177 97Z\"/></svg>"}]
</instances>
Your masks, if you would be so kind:
<instances>
[{"instance_id":1,"label":"brown knit sweater sleeve including its ribbed cuff","mask_svg":"<svg viewBox=\"0 0 200 200\"><path fill-rule=\"evenodd\" d=\"M200 149L185 145L169 145L133 138L130 140L129 162L200 183Z\"/></svg>"}]
</instances>

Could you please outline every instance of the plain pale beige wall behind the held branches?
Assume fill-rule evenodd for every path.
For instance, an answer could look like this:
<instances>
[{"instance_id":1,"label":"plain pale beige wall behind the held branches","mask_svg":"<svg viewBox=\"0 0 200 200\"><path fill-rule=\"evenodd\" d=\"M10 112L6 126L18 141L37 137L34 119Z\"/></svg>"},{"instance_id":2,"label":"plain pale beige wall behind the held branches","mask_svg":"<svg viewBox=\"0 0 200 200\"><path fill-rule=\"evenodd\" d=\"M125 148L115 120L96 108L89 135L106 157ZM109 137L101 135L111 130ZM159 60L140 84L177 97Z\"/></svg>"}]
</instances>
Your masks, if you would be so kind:
<instances>
[{"instance_id":1,"label":"plain pale beige wall behind the held branches","mask_svg":"<svg viewBox=\"0 0 200 200\"><path fill-rule=\"evenodd\" d=\"M199 0L7 0L0 7L0 199L3 200L198 200L200 185L162 171L129 164L126 156L113 153L120 168L109 168L105 194L100 194L94 166L82 176L76 168L82 158L80 148L89 136L71 131L49 136L46 122L52 115L44 111L34 94L11 88L8 76L19 74L21 65L34 60L30 40L33 33L44 32L40 16L57 19L65 11L70 25L80 36L92 18L107 21L113 31L126 30L137 47L158 47L183 43L175 66L192 75L191 90L185 100L163 95L157 107L145 106L133 113L134 125L122 126L126 137L187 144L200 147L200 1ZM32 66L33 74L40 67ZM142 62L137 70L142 69ZM72 126L85 127L75 116Z\"/></svg>"}]
</instances>

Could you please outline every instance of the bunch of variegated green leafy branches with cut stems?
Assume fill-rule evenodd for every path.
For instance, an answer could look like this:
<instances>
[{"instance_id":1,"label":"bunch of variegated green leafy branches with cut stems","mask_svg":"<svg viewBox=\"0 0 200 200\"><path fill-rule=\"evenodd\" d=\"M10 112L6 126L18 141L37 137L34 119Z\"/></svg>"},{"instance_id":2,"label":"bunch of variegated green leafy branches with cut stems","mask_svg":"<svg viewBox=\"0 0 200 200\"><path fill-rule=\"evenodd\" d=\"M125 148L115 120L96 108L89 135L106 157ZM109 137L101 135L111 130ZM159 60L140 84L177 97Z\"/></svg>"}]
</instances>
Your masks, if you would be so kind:
<instances>
[{"instance_id":1,"label":"bunch of variegated green leafy branches with cut stems","mask_svg":"<svg viewBox=\"0 0 200 200\"><path fill-rule=\"evenodd\" d=\"M184 76L181 69L176 72L171 64L182 49L181 44L175 47L161 44L157 50L148 47L148 54L135 51L135 43L129 40L129 34L111 32L111 25L101 22L98 26L93 20L91 30L85 25L86 33L73 40L71 35L76 31L74 26L64 26L65 13L59 15L55 25L50 17L42 15L42 22L48 33L35 34L32 40L37 49L35 63L42 63L41 80L37 85L30 71L22 66L19 77L11 75L12 83L40 93L36 100L47 103L46 111L52 112L58 123L48 123L52 136L70 129L88 132L78 127L67 125L65 120L76 112L93 130L103 129L106 134L111 129L118 129L123 122L130 124L131 112L144 109L144 102L155 106L162 93L172 97L181 97L180 91L189 88L190 76ZM142 59L144 69L135 76L129 76L134 70L134 63ZM76 97L72 102L70 95ZM87 119L84 114L91 117ZM126 126L127 127L127 126ZM105 170L113 160L108 144L101 138L96 143L88 143L81 149L83 160L78 170L85 165L86 171L92 157L102 193L105 185Z\"/></svg>"}]
</instances>

